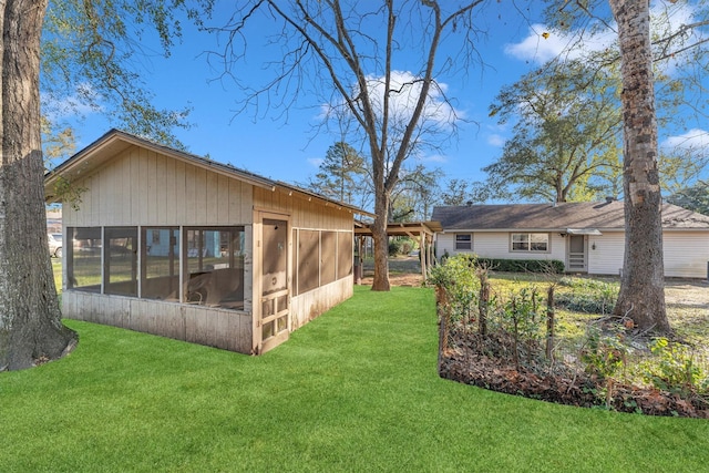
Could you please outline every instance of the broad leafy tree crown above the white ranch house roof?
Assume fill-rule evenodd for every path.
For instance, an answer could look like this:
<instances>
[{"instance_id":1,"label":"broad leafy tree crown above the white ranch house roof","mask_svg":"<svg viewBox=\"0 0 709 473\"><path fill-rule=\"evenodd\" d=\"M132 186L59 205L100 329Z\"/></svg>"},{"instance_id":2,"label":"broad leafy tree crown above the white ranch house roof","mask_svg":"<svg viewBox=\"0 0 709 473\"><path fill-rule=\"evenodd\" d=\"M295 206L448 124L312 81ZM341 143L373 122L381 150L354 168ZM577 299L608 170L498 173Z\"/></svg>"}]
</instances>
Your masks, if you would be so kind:
<instances>
[{"instance_id":1,"label":"broad leafy tree crown above the white ranch house roof","mask_svg":"<svg viewBox=\"0 0 709 473\"><path fill-rule=\"evenodd\" d=\"M584 199L618 167L620 114L613 73L582 61L553 60L491 105L514 123L502 156L483 168L487 186L512 199Z\"/></svg>"}]
</instances>

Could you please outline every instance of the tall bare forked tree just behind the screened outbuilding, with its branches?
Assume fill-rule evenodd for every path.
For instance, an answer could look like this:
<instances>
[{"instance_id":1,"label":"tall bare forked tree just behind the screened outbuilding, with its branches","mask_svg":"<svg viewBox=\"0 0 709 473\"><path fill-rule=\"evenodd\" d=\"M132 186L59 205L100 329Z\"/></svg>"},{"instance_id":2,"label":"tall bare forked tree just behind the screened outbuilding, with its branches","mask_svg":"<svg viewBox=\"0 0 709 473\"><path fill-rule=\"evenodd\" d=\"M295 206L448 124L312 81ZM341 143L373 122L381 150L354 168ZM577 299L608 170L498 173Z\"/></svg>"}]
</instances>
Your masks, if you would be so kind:
<instances>
[{"instance_id":1,"label":"tall bare forked tree just behind the screened outbuilding, with its branches","mask_svg":"<svg viewBox=\"0 0 709 473\"><path fill-rule=\"evenodd\" d=\"M222 58L228 68L248 50L245 41L237 41L246 38L249 20L265 8L266 14L281 21L271 40L284 48L279 51L282 62L269 84L253 91L255 102L277 95L288 106L299 90L311 93L323 86L325 102L347 110L359 124L374 187L373 290L390 288L387 223L402 164L436 127L442 134L441 123L446 123L446 135L451 134L454 111L436 80L445 70L464 66L464 61L440 61L436 68L441 43L456 42L469 49L460 58L474 58L470 51L477 33L473 10L482 2L254 0L219 29L228 37ZM407 65L410 72L401 72ZM398 106L401 104L405 106Z\"/></svg>"}]
</instances>

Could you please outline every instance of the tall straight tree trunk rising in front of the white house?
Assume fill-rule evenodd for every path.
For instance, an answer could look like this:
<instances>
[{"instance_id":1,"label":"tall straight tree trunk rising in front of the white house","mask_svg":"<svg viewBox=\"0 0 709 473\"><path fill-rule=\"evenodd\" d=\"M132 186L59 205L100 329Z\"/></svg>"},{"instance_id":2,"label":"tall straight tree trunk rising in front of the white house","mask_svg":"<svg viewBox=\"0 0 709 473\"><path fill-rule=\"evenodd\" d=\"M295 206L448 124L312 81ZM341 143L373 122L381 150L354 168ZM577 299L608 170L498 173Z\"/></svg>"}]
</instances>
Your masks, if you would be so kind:
<instances>
[{"instance_id":1,"label":"tall straight tree trunk rising in front of the white house","mask_svg":"<svg viewBox=\"0 0 709 473\"><path fill-rule=\"evenodd\" d=\"M643 330L668 332L649 2L610 0L610 8L621 56L626 229L615 313Z\"/></svg>"}]
</instances>

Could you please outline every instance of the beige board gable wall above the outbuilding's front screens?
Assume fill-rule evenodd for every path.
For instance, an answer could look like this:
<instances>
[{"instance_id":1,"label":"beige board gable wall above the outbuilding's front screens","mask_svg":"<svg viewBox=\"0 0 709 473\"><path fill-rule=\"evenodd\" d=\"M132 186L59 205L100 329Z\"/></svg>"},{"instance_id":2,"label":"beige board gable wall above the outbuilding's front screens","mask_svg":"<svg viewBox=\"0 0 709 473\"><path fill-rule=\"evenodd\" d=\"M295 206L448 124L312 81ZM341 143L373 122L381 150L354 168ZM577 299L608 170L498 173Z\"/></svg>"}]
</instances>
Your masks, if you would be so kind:
<instances>
[{"instance_id":1,"label":"beige board gable wall above the outbuilding's front screens","mask_svg":"<svg viewBox=\"0 0 709 473\"><path fill-rule=\"evenodd\" d=\"M253 223L253 186L153 151L131 146L90 177L80 212L64 206L64 225L193 226Z\"/></svg>"}]
</instances>

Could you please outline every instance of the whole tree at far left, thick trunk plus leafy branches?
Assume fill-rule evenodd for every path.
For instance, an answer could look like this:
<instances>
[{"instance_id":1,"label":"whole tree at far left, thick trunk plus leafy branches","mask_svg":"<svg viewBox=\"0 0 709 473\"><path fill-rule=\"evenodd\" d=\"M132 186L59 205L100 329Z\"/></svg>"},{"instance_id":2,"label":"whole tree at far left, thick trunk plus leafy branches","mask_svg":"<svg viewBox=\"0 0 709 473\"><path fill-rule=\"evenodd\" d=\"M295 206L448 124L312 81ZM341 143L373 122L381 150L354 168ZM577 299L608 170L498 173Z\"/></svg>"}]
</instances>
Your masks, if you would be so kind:
<instances>
[{"instance_id":1,"label":"whole tree at far left, thick trunk plus leafy branches","mask_svg":"<svg viewBox=\"0 0 709 473\"><path fill-rule=\"evenodd\" d=\"M206 12L209 4L204 1ZM135 52L129 44L141 38L135 31L142 31L143 22L155 28L165 45L171 43L178 33L172 9L184 7L182 0L52 3L49 32L42 37L47 7L48 0L0 2L0 371L55 359L76 342L61 322L47 240L40 61L43 80L54 78L59 84L63 78L69 86L84 78L82 86L104 92L122 122L134 124L134 131L145 125L145 136L169 141L161 130L167 131L178 116L152 107L126 65ZM78 37L68 37L72 33ZM47 90L58 91L56 84ZM70 136L64 134L63 141L60 147Z\"/></svg>"}]
</instances>

